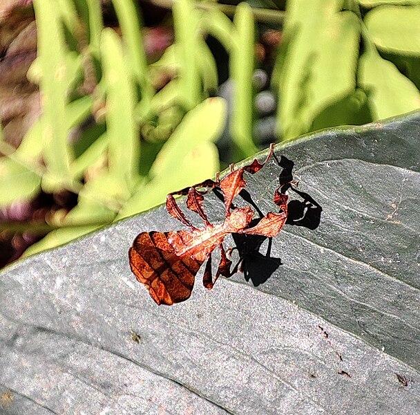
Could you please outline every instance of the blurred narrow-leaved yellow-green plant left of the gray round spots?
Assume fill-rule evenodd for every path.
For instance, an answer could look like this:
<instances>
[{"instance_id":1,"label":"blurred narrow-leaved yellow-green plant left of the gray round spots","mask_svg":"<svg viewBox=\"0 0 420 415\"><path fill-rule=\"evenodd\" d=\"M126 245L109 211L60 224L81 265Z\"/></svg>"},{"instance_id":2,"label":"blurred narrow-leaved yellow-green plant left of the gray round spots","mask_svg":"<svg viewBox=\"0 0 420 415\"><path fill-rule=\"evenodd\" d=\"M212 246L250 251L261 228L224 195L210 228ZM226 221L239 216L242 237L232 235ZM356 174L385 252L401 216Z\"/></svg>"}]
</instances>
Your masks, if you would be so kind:
<instances>
[{"instance_id":1,"label":"blurred narrow-leaved yellow-green plant left of the gray round spots","mask_svg":"<svg viewBox=\"0 0 420 415\"><path fill-rule=\"evenodd\" d=\"M209 98L218 89L216 62L204 41L209 33L225 33L222 41L231 53L235 158L255 153L254 19L246 4L232 22L217 8L209 14L191 0L177 1L175 42L151 65L133 0L113 1L121 37L104 28L99 0L33 0L33 6L38 50L28 77L39 84L42 116L17 149L0 137L6 156L0 158L0 187L7 189L0 208L40 190L70 190L78 199L47 225L26 224L29 232L51 231L26 255L153 208L168 192L220 169L214 142L225 126L227 104ZM151 80L164 73L173 77L156 93Z\"/></svg>"}]
</instances>

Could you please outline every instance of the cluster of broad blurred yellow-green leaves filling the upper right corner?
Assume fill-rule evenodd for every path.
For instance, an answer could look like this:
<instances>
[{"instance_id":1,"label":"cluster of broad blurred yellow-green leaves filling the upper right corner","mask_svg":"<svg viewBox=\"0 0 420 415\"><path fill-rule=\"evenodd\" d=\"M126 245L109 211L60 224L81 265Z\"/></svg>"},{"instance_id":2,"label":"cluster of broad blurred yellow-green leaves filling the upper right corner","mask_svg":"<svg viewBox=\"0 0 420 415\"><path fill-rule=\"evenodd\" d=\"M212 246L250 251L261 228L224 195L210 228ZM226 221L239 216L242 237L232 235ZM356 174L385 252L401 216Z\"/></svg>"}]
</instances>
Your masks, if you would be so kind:
<instances>
[{"instance_id":1,"label":"cluster of broad blurred yellow-green leaves filling the upper right corner","mask_svg":"<svg viewBox=\"0 0 420 415\"><path fill-rule=\"evenodd\" d=\"M420 7L398 6L419 1L359 3L287 3L273 76L283 139L420 108Z\"/></svg>"}]
</instances>

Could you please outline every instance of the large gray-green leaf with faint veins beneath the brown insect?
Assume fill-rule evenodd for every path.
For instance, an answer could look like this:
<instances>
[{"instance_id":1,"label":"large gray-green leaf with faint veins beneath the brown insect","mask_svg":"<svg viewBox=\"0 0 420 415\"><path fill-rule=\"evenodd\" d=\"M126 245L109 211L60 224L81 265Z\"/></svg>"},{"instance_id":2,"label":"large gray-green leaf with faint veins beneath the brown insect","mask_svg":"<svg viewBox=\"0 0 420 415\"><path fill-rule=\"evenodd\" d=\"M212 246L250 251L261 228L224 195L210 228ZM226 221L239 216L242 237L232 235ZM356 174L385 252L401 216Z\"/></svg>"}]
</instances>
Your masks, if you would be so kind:
<instances>
[{"instance_id":1,"label":"large gray-green leaf with faint veins beneath the brown insect","mask_svg":"<svg viewBox=\"0 0 420 415\"><path fill-rule=\"evenodd\" d=\"M417 413L419 137L415 113L276 147L321 205L320 225L286 225L271 258L248 257L246 278L212 291L198 278L176 306L157 306L127 260L138 232L180 228L164 208L8 268L3 411ZM247 176L263 212L279 172L271 160ZM207 208L222 219L216 197Z\"/></svg>"}]
</instances>

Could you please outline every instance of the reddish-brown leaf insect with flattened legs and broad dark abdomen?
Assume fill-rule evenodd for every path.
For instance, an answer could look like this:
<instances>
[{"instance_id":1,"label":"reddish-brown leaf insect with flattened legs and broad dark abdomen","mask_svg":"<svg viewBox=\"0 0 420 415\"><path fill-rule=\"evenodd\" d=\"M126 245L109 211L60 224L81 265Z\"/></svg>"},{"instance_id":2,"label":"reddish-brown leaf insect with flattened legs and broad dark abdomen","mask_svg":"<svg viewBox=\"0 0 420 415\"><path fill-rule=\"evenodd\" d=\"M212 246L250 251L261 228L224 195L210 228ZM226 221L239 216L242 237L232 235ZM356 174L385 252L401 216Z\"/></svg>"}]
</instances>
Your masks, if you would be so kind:
<instances>
[{"instance_id":1,"label":"reddish-brown leaf insect with flattened legs and broad dark abdomen","mask_svg":"<svg viewBox=\"0 0 420 415\"><path fill-rule=\"evenodd\" d=\"M142 232L137 235L128 252L131 270L137 279L146 285L156 303L171 305L189 298L195 275L206 260L203 276L206 288L213 288L220 275L233 275L232 262L223 247L223 240L227 234L236 232L275 237L280 232L287 219L288 199L287 194L281 192L281 186L274 192L274 203L281 212L267 213L255 226L249 226L254 216L254 210L250 206L236 208L232 205L233 199L246 185L244 173L255 174L262 169L273 151L274 145L271 145L269 155L263 163L254 160L240 169L233 169L231 165L231 172L222 180L217 174L216 181L209 179L166 196L166 209L169 214L187 225L189 230ZM213 225L204 212L204 194L216 188L221 190L225 198L225 221ZM177 194L187 195L187 208L202 218L203 228L195 228L185 216L173 197ZM213 280L211 254L216 248L220 249L220 263Z\"/></svg>"}]
</instances>

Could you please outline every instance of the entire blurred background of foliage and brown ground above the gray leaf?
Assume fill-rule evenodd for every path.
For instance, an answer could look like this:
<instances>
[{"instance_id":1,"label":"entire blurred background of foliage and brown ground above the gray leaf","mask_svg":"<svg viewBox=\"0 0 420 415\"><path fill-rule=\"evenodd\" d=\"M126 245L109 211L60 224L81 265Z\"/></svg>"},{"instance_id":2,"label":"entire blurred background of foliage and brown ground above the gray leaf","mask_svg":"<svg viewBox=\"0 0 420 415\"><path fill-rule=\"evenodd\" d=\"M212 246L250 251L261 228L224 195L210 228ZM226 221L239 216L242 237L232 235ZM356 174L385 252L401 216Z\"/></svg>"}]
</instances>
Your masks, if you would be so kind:
<instances>
[{"instance_id":1,"label":"entire blurred background of foliage and brown ground above the gray leaf","mask_svg":"<svg viewBox=\"0 0 420 415\"><path fill-rule=\"evenodd\" d=\"M1 1L0 267L270 142L419 109L419 21L420 0Z\"/></svg>"}]
</instances>

